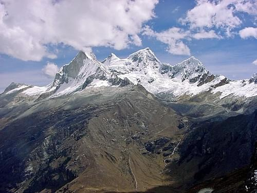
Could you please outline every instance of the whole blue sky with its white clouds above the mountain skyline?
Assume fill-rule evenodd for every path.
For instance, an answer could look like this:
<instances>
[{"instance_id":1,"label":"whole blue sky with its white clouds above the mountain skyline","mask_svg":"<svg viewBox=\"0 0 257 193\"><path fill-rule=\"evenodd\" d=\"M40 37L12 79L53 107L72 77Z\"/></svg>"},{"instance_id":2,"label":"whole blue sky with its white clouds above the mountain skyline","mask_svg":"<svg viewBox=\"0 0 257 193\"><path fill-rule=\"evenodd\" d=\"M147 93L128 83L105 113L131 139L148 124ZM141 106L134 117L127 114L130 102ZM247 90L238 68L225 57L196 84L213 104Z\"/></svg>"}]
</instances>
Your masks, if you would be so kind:
<instances>
[{"instance_id":1,"label":"whole blue sky with its white clouds above the mountain skyline","mask_svg":"<svg viewBox=\"0 0 257 193\"><path fill-rule=\"evenodd\" d=\"M126 58L150 47L161 62L195 56L211 73L230 79L257 73L255 0L70 2L0 4L0 92L11 82L50 83L44 69L69 63L80 49L91 49L101 61L111 52ZM21 6L30 14L19 12Z\"/></svg>"}]
</instances>

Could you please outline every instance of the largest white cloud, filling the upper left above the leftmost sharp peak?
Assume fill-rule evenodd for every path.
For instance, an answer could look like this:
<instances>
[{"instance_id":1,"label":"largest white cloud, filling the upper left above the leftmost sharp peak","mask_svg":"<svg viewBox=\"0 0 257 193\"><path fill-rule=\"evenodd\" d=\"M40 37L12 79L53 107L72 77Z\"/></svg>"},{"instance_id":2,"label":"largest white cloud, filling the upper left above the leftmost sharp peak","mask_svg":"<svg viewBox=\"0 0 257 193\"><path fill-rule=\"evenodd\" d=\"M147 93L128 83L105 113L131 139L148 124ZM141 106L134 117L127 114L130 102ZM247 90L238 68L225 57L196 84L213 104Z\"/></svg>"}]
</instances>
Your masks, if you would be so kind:
<instances>
[{"instance_id":1,"label":"largest white cloud, filling the upper left above the leftmost sharp peak","mask_svg":"<svg viewBox=\"0 0 257 193\"><path fill-rule=\"evenodd\" d=\"M141 45L138 34L151 20L158 0L3 0L0 52L21 60L56 58L47 45L78 50Z\"/></svg>"}]
</instances>

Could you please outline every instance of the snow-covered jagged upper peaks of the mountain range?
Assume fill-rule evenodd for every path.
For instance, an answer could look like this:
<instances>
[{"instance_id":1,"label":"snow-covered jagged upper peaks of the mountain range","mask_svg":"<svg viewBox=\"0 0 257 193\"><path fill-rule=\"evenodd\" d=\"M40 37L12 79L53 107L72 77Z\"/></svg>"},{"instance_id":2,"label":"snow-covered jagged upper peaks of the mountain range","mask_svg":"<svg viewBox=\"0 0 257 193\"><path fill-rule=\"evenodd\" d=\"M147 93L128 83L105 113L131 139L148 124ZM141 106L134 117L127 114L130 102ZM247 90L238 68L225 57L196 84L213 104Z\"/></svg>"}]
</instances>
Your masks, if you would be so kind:
<instances>
[{"instance_id":1,"label":"snow-covered jagged upper peaks of the mountain range","mask_svg":"<svg viewBox=\"0 0 257 193\"><path fill-rule=\"evenodd\" d=\"M12 83L4 94L21 92L27 96L56 97L81 92L87 87L119 86L128 79L141 84L155 95L171 94L174 100L210 91L219 98L229 95L256 96L257 75L247 80L229 80L223 75L213 75L195 57L176 65L161 63L150 48L141 49L120 59L115 54L99 62L93 53L80 51L78 55L56 74L47 86Z\"/></svg>"}]
</instances>

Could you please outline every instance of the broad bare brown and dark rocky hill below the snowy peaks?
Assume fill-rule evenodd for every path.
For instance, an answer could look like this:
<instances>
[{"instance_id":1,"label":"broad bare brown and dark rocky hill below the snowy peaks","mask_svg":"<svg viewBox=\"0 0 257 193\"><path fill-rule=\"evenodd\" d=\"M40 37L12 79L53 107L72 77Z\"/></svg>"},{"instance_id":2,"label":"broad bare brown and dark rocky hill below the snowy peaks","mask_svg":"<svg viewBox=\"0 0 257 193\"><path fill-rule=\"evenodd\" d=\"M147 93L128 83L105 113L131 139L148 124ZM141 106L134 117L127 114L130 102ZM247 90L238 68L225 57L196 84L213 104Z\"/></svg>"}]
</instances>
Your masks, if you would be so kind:
<instances>
[{"instance_id":1,"label":"broad bare brown and dark rocky hill below the snowy peaks","mask_svg":"<svg viewBox=\"0 0 257 193\"><path fill-rule=\"evenodd\" d=\"M136 180L141 190L162 185L160 150L170 145L171 152L182 137L180 119L141 86L37 103L0 131L1 191L132 191Z\"/></svg>"}]
</instances>

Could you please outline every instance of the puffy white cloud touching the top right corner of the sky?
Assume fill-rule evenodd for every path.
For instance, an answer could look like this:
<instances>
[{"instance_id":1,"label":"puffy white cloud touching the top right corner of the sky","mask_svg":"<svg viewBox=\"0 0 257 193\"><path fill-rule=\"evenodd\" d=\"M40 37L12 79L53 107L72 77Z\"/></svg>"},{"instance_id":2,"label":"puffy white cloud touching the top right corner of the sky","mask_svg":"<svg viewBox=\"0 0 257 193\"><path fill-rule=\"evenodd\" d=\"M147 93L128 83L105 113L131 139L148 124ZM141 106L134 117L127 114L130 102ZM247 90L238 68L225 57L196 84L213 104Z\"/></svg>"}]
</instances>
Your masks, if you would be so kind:
<instances>
[{"instance_id":1,"label":"puffy white cloud touching the top right corner of the sky","mask_svg":"<svg viewBox=\"0 0 257 193\"><path fill-rule=\"evenodd\" d=\"M191 29L216 28L232 36L232 30L242 24L240 13L257 15L255 0L197 0L196 6L187 12L182 24L189 24Z\"/></svg>"}]
</instances>

